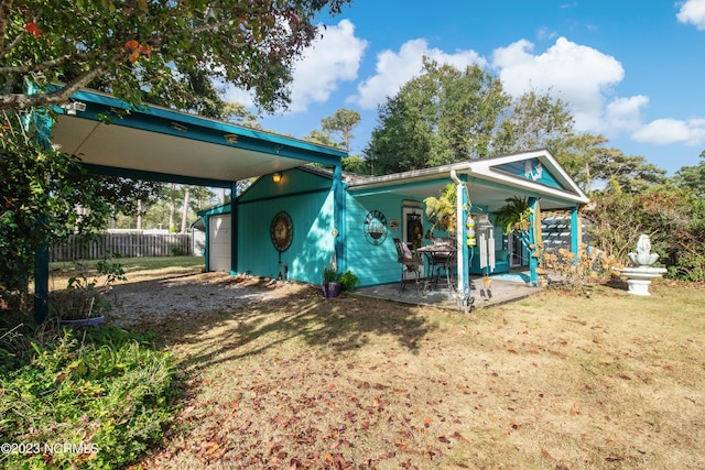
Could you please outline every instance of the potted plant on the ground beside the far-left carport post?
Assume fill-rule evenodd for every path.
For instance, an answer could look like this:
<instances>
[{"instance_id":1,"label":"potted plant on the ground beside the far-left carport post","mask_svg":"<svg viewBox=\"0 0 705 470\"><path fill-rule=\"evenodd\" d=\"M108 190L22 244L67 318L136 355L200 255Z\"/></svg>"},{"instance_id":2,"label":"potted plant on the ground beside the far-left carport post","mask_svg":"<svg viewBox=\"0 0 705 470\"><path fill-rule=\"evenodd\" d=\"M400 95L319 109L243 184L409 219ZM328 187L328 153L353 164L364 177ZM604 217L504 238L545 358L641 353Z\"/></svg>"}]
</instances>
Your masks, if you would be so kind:
<instances>
[{"instance_id":1,"label":"potted plant on the ground beside the far-left carport post","mask_svg":"<svg viewBox=\"0 0 705 470\"><path fill-rule=\"evenodd\" d=\"M89 278L85 262L76 262L75 269L77 275L68 280L66 289L51 299L52 310L61 326L79 328L100 325L105 321L102 314L110 308L108 294L116 281L126 280L124 270L120 264L100 260L96 265L96 276Z\"/></svg>"}]
</instances>

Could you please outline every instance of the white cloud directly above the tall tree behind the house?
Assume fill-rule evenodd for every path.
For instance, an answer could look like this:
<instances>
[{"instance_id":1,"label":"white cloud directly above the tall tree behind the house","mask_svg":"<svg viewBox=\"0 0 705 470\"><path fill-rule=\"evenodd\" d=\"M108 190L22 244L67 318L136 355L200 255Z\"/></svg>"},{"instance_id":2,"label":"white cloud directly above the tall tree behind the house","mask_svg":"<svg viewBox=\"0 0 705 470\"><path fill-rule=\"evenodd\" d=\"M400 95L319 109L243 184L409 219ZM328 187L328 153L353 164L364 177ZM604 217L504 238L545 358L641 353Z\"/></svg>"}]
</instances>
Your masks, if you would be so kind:
<instances>
[{"instance_id":1,"label":"white cloud directly above the tall tree behind the house","mask_svg":"<svg viewBox=\"0 0 705 470\"><path fill-rule=\"evenodd\" d=\"M358 94L347 98L347 102L362 109L377 109L387 97L394 96L403 84L421 73L423 57L440 64L449 64L464 69L471 64L485 65L475 51L457 51L446 54L437 48L429 48L425 40L405 42L399 52L382 51L377 55L376 74L358 85Z\"/></svg>"}]
</instances>

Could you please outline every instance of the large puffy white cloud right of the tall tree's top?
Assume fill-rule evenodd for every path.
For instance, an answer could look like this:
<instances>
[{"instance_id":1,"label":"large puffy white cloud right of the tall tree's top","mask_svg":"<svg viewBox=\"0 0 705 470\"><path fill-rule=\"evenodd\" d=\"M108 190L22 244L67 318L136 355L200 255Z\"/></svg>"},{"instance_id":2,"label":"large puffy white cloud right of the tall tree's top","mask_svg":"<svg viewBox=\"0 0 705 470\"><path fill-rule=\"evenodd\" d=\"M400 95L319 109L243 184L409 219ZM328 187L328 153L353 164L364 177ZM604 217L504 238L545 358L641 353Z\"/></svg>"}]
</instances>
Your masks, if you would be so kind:
<instances>
[{"instance_id":1,"label":"large puffy white cloud right of the tall tree's top","mask_svg":"<svg viewBox=\"0 0 705 470\"><path fill-rule=\"evenodd\" d=\"M572 108L578 130L601 131L605 95L625 77L621 64L565 37L543 54L532 52L527 40L494 52L492 66L499 69L505 89L513 96L531 89L556 94Z\"/></svg>"}]
</instances>

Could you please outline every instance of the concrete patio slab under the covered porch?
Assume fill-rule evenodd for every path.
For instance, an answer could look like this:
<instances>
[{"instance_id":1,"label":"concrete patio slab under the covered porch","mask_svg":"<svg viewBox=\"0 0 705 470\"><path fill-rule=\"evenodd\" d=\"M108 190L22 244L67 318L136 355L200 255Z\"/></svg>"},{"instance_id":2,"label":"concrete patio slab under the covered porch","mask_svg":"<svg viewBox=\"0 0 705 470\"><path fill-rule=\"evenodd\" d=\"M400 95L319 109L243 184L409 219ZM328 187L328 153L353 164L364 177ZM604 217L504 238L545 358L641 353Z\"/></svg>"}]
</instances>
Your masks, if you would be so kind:
<instances>
[{"instance_id":1,"label":"concrete patio slab under the covered porch","mask_svg":"<svg viewBox=\"0 0 705 470\"><path fill-rule=\"evenodd\" d=\"M480 295L480 291L484 289L481 276L473 275L470 277L471 295L475 297L475 308L494 307L508 302L519 300L542 291L541 287L534 287L528 283L529 273L524 271L497 274L490 276L490 278L491 297L487 295L487 289L485 289L485 296ZM426 305L453 310L458 309L456 299L451 295L448 288L429 288L425 293L422 293L423 295L419 295L415 281L408 281L404 292L401 294L399 293L399 283L362 287L356 289L355 293L366 297L383 298L403 304Z\"/></svg>"}]
</instances>

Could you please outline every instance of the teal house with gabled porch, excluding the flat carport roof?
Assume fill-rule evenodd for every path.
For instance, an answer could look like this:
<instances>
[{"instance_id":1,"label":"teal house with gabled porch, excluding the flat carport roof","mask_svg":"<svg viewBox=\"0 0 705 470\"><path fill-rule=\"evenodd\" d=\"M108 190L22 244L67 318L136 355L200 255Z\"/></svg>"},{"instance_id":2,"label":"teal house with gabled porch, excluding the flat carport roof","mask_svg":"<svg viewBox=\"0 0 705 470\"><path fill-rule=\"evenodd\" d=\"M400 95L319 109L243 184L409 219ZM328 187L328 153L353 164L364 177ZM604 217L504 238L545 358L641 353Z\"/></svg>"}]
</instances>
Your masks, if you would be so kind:
<instances>
[{"instance_id":1,"label":"teal house with gabled porch, excluding the flat carport roof","mask_svg":"<svg viewBox=\"0 0 705 470\"><path fill-rule=\"evenodd\" d=\"M484 223L484 249L466 247L467 263L458 265L465 278L522 266L535 277L527 241L505 234L495 223L495 211L513 196L527 198L534 214L536 209L566 214L567 248L577 251L577 211L588 199L541 150L384 176L345 174L340 197L330 170L303 165L263 175L231 205L199 214L207 233L206 269L319 283L323 269L335 263L339 272L356 274L361 286L399 282L402 270L393 240L430 243L432 225L423 200L438 196L448 184L457 184L467 203L462 220L471 217ZM535 239L535 227L530 238ZM481 266L480 252L491 259L490 265Z\"/></svg>"}]
</instances>

